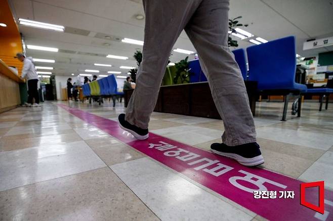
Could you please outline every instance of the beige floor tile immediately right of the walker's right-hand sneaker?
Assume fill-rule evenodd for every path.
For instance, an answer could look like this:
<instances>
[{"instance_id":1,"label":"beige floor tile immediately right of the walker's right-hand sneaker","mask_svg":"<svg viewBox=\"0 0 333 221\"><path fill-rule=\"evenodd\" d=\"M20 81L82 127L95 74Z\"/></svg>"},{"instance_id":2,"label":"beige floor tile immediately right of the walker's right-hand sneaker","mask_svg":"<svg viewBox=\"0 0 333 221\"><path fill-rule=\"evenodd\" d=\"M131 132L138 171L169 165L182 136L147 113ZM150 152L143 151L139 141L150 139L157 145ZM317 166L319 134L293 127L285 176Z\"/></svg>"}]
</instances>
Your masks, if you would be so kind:
<instances>
[{"instance_id":1,"label":"beige floor tile immediately right of the walker's right-hand sneaker","mask_svg":"<svg viewBox=\"0 0 333 221\"><path fill-rule=\"evenodd\" d=\"M257 138L257 141L265 158L263 167L294 178L298 178L325 152L263 138Z\"/></svg>"}]
</instances>

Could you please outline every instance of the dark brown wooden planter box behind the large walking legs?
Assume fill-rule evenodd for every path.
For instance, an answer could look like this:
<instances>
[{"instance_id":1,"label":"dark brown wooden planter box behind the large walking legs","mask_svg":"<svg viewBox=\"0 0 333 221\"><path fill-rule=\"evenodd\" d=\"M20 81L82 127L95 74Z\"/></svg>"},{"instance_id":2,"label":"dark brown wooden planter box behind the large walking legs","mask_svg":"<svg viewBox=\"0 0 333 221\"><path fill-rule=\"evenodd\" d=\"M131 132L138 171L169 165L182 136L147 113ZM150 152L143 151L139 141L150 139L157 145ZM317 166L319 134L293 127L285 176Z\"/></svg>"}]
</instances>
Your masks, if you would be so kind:
<instances>
[{"instance_id":1,"label":"dark brown wooden planter box behind the large walking legs","mask_svg":"<svg viewBox=\"0 0 333 221\"><path fill-rule=\"evenodd\" d=\"M249 105L253 116L256 113L257 82L245 81ZM124 90L124 105L132 96L133 89ZM149 97L147 97L149 99ZM161 86L155 112L221 119L215 106L208 82Z\"/></svg>"}]
</instances>

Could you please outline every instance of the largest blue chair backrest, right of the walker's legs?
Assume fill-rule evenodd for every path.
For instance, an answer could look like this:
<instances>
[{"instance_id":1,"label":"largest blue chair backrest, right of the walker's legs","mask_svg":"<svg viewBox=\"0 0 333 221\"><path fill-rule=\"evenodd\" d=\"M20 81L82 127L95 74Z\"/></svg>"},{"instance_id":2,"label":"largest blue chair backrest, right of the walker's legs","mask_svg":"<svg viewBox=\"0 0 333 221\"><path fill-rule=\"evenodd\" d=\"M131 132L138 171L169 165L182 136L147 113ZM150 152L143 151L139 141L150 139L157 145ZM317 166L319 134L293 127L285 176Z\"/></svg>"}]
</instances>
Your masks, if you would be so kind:
<instances>
[{"instance_id":1,"label":"largest blue chair backrest, right of the walker's legs","mask_svg":"<svg viewBox=\"0 0 333 221\"><path fill-rule=\"evenodd\" d=\"M259 90L294 89L295 37L288 36L246 48L248 80L258 81Z\"/></svg>"}]
</instances>

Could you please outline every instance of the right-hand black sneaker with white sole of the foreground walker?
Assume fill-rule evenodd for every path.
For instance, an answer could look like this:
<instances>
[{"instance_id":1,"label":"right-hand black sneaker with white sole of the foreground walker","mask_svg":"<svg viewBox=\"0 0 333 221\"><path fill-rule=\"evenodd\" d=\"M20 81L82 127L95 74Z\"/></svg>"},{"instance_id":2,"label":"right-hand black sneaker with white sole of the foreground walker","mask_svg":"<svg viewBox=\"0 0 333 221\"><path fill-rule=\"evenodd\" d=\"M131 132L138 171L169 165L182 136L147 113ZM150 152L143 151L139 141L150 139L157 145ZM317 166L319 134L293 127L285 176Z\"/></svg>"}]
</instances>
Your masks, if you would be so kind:
<instances>
[{"instance_id":1,"label":"right-hand black sneaker with white sole of the foreground walker","mask_svg":"<svg viewBox=\"0 0 333 221\"><path fill-rule=\"evenodd\" d=\"M247 167L254 167L264 163L258 143L245 143L238 146L227 146L224 143L213 143L211 151L213 153L237 160Z\"/></svg>"}]
</instances>

